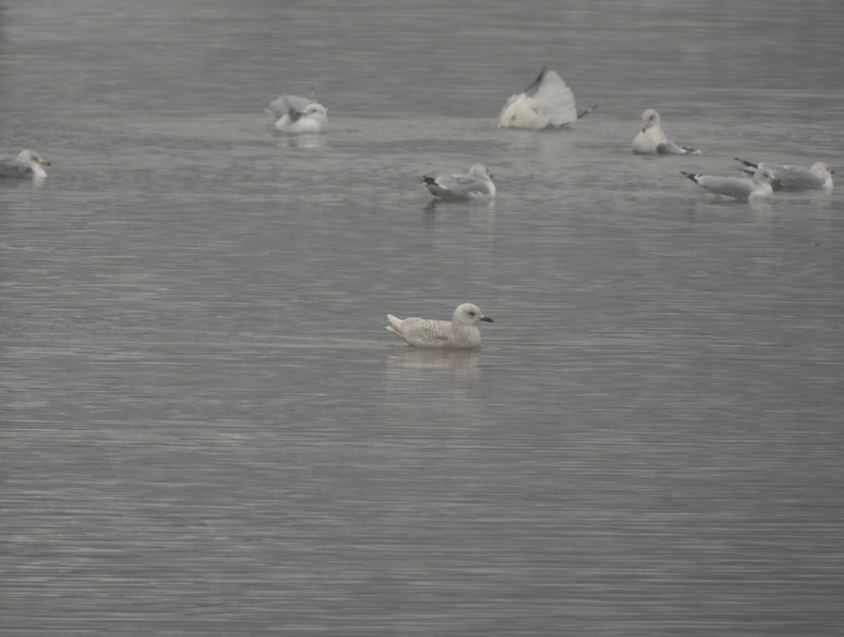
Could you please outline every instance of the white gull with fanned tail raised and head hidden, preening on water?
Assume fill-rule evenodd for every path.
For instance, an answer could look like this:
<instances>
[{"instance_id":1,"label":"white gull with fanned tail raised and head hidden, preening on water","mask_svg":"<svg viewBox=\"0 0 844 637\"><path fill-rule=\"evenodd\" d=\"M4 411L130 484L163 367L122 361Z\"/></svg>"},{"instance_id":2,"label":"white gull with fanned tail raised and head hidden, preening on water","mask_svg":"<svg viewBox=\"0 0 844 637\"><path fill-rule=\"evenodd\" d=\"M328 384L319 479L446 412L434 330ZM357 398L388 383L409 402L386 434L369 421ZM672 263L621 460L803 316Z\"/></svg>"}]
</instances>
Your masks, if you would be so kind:
<instances>
[{"instance_id":1,"label":"white gull with fanned tail raised and head hidden, preening on water","mask_svg":"<svg viewBox=\"0 0 844 637\"><path fill-rule=\"evenodd\" d=\"M500 128L560 128L598 108L578 114L575 96L560 75L543 67L524 93L511 95L498 117Z\"/></svg>"}]
</instances>

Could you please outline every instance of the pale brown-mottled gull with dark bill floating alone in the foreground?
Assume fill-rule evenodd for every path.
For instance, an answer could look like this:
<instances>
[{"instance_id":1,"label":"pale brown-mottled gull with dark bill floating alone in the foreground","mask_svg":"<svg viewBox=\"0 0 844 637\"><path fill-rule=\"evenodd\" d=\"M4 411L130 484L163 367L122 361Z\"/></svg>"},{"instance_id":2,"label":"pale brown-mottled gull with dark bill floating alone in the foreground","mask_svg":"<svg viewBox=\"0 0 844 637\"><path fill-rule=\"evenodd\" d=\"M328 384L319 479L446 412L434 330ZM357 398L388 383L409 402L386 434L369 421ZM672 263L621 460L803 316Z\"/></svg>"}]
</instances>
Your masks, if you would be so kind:
<instances>
[{"instance_id":1,"label":"pale brown-mottled gull with dark bill floating alone in the foreground","mask_svg":"<svg viewBox=\"0 0 844 637\"><path fill-rule=\"evenodd\" d=\"M492 323L480 308L472 303L463 303L454 310L450 321L431 318L396 318L387 314L387 325L393 334L399 335L414 347L463 350L480 345L480 321Z\"/></svg>"}]
</instances>

